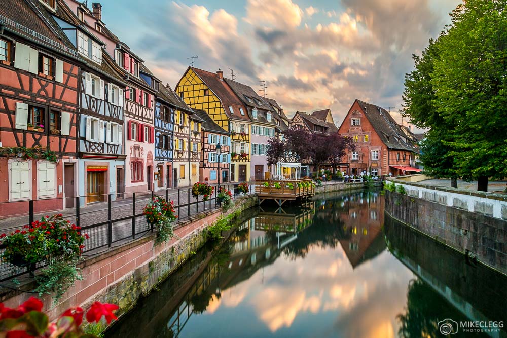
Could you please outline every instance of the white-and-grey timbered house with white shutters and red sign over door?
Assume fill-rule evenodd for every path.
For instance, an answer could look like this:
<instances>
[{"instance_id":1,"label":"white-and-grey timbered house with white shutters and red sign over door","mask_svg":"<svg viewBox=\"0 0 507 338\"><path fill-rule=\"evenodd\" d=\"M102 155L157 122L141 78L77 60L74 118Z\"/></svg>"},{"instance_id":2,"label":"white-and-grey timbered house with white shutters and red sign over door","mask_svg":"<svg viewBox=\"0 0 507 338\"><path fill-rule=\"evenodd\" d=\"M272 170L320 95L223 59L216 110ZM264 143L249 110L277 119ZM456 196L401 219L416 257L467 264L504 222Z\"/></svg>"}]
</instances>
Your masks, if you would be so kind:
<instances>
[{"instance_id":1,"label":"white-and-grey timbered house with white shutters and red sign over door","mask_svg":"<svg viewBox=\"0 0 507 338\"><path fill-rule=\"evenodd\" d=\"M123 197L123 97L126 83L114 60L89 27L63 2L54 14L57 23L87 60L80 72L78 192L82 204Z\"/></svg>"}]
</instances>

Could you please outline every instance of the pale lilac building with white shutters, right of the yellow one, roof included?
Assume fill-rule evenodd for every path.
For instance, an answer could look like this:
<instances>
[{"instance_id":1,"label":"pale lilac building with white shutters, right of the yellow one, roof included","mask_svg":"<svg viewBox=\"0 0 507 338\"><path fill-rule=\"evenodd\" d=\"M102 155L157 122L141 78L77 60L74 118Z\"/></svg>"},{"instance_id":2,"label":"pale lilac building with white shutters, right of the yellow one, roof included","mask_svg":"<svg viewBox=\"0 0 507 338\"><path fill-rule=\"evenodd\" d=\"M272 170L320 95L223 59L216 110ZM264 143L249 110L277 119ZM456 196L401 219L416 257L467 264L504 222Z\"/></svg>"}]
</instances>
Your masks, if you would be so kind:
<instances>
[{"instance_id":1,"label":"pale lilac building with white shutters, right of the yellow one, roof included","mask_svg":"<svg viewBox=\"0 0 507 338\"><path fill-rule=\"evenodd\" d=\"M266 177L268 168L266 151L268 140L275 137L277 123L276 112L267 101L263 100L250 86L237 81L225 79L229 87L246 106L252 121L250 136L250 177L249 180L259 180ZM277 114L276 114L277 115Z\"/></svg>"}]
</instances>

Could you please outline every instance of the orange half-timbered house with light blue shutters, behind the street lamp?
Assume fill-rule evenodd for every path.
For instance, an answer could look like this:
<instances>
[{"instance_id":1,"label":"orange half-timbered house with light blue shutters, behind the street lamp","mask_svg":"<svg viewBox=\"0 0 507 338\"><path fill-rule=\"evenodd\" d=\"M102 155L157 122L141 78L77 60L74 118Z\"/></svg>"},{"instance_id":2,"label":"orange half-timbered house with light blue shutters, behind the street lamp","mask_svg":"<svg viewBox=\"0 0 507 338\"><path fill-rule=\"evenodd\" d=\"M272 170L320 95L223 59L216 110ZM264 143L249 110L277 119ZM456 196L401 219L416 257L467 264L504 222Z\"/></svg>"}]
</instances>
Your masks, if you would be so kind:
<instances>
[{"instance_id":1,"label":"orange half-timbered house with light blue shutters, behind the street lamp","mask_svg":"<svg viewBox=\"0 0 507 338\"><path fill-rule=\"evenodd\" d=\"M199 181L210 184L219 183L219 181L220 183L228 182L231 163L231 154L229 152L231 146L230 133L216 124L205 111L194 109L194 112L203 120L201 124ZM220 155L216 154L218 144L221 147Z\"/></svg>"}]
</instances>

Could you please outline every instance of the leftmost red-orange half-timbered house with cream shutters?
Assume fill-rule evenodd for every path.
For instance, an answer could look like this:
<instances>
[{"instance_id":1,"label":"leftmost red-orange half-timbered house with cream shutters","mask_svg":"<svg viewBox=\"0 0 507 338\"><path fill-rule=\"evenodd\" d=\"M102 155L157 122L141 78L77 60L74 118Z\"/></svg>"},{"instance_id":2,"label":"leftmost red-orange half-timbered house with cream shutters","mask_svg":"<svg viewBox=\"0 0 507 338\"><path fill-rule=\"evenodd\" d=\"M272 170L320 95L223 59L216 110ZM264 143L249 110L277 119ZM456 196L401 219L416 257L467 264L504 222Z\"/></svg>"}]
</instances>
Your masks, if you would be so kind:
<instances>
[{"instance_id":1,"label":"leftmost red-orange half-timbered house with cream shutters","mask_svg":"<svg viewBox=\"0 0 507 338\"><path fill-rule=\"evenodd\" d=\"M68 207L74 199L63 197L77 195L83 62L56 25L55 11L55 2L12 0L0 6L0 171L5 178L0 200L38 200L35 211ZM0 215L26 212L25 203L0 204Z\"/></svg>"}]
</instances>

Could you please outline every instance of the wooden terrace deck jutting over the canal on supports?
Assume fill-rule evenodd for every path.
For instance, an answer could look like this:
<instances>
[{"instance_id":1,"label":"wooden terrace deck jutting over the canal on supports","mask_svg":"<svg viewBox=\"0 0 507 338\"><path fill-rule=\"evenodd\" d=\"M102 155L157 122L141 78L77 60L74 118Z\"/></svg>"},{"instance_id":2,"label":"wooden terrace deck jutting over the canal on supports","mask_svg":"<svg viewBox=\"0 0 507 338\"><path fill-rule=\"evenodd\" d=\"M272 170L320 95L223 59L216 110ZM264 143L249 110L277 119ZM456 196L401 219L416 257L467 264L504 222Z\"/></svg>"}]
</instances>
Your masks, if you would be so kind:
<instances>
[{"instance_id":1,"label":"wooden terrace deck jutting over the canal on supports","mask_svg":"<svg viewBox=\"0 0 507 338\"><path fill-rule=\"evenodd\" d=\"M299 186L298 183L302 186ZM315 186L310 178L257 180L255 182L255 192L259 196L259 204L265 200L274 200L279 206L282 206L286 201L312 197L315 195Z\"/></svg>"}]
</instances>

